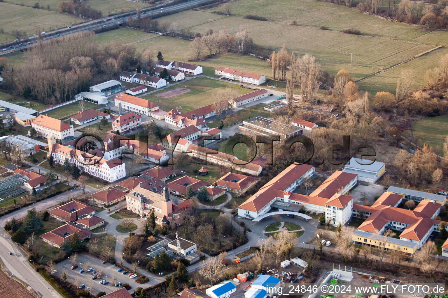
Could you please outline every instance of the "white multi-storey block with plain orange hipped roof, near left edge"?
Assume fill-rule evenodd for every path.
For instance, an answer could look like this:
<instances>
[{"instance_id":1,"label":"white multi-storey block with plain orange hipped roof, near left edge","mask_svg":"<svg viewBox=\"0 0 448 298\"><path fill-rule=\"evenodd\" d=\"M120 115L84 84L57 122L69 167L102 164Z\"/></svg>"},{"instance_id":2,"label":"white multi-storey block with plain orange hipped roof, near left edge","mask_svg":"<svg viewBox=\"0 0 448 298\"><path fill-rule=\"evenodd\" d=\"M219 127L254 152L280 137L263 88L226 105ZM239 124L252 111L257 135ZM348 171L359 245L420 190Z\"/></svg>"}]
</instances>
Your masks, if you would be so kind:
<instances>
[{"instance_id":1,"label":"white multi-storey block with plain orange hipped roof, near left edge","mask_svg":"<svg viewBox=\"0 0 448 298\"><path fill-rule=\"evenodd\" d=\"M54 135L56 139L64 139L67 137L74 137L73 126L60 121L55 118L48 117L47 115L39 115L31 123L31 126L40 134L43 138Z\"/></svg>"}]
</instances>

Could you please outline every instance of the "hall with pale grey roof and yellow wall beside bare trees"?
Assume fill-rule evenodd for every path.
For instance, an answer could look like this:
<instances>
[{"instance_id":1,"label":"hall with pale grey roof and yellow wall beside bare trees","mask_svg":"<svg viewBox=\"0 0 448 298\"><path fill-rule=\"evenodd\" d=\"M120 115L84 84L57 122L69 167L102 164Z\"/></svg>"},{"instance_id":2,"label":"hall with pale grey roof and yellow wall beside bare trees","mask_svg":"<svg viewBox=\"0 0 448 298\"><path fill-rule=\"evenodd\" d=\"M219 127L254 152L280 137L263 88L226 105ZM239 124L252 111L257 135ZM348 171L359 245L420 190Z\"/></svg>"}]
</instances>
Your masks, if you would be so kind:
<instances>
[{"instance_id":1,"label":"hall with pale grey roof and yellow wall beside bare trees","mask_svg":"<svg viewBox=\"0 0 448 298\"><path fill-rule=\"evenodd\" d=\"M386 172L386 164L352 157L342 172L358 175L359 181L375 183Z\"/></svg>"}]
</instances>

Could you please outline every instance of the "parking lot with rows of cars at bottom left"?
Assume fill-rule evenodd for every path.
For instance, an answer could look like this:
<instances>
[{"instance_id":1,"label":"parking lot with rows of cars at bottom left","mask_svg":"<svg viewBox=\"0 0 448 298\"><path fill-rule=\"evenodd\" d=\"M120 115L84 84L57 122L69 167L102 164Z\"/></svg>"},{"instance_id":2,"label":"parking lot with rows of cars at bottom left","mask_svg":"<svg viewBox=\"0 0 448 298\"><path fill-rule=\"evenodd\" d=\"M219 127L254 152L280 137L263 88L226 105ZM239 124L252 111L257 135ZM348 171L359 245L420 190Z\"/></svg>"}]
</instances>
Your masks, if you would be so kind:
<instances>
[{"instance_id":1,"label":"parking lot with rows of cars at bottom left","mask_svg":"<svg viewBox=\"0 0 448 298\"><path fill-rule=\"evenodd\" d=\"M63 270L66 270L67 280L76 285L76 281L78 281L79 285L86 285L87 287L92 288L92 294L97 294L98 292L104 291L106 293L110 293L117 288L115 287L115 283L129 283L131 286L130 292L134 292L135 288L138 286L142 286L135 282L135 279L131 279L128 274L122 274L117 272L119 267L112 265L111 263L101 264L103 260L88 256L86 254L79 255L76 259L76 264L78 264L78 268L71 270L70 267L73 265L73 262L69 263L69 260L65 260L56 264L56 270L59 277L62 277ZM81 264L80 264L81 263ZM93 274L91 272L87 272L87 264L89 267L92 267L94 270L101 272L101 278L98 277L95 280L92 280ZM84 269L83 273L79 273L79 270ZM107 277L106 277L107 276ZM107 280L109 283L107 285L99 284L99 281Z\"/></svg>"}]
</instances>

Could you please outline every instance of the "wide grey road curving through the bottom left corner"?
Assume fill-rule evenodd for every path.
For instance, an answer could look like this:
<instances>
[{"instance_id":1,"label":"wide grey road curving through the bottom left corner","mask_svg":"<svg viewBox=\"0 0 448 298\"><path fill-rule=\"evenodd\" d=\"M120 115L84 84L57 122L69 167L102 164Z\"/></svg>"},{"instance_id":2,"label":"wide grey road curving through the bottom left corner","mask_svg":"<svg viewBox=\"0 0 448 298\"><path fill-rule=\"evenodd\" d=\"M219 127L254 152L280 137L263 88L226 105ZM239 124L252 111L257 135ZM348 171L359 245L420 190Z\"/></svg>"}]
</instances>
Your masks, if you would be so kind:
<instances>
[{"instance_id":1,"label":"wide grey road curving through the bottom left corner","mask_svg":"<svg viewBox=\"0 0 448 298\"><path fill-rule=\"evenodd\" d=\"M12 252L13 254L9 255L8 252ZM45 298L62 298L39 273L33 270L33 267L28 264L26 255L22 254L22 251L11 242L8 236L6 238L4 238L4 235L0 237L0 257L9 273L13 273L14 276L25 281L39 296Z\"/></svg>"}]
</instances>

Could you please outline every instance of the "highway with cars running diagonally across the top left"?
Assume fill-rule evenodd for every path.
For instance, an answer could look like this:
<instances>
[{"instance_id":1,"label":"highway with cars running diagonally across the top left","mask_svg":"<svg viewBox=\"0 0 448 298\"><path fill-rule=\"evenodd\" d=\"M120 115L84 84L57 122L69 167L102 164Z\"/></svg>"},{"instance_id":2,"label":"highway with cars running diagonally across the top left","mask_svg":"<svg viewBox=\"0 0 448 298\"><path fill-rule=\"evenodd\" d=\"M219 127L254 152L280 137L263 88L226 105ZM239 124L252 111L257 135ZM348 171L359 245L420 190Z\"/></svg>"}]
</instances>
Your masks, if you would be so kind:
<instances>
[{"instance_id":1,"label":"highway with cars running diagonally across the top left","mask_svg":"<svg viewBox=\"0 0 448 298\"><path fill-rule=\"evenodd\" d=\"M142 8L140 10L140 17L144 18L144 17L157 16L160 13L170 12L173 10L186 8L189 6L194 6L196 4L200 4L203 2L207 2L207 1L209 1L209 0L191 0L188 2L184 2L184 3L169 5L166 7L161 7L159 5L159 6L157 6L157 8L153 8L153 9ZM136 13L129 13L129 12L128 13L120 13L120 14L117 14L112 17L103 17L102 19L98 19L95 21L88 21L88 22L85 22L82 24L69 26L65 29L61 28L61 29L52 30L52 31L46 32L45 34L42 34L41 37L42 37L42 40L49 40L52 38L64 36L66 34L72 34L72 33L82 32L82 31L93 31L96 29L101 29L103 27L110 27L110 26L114 26L117 24L122 24L123 22L128 21L130 18L135 18L135 17L137 17ZM11 52L17 51L17 50L24 50L24 49L32 46L36 42L37 42L37 37L27 39L26 41L19 41L13 45L8 45L7 47L2 48L0 50L0 55L6 54L6 53L11 53Z\"/></svg>"}]
</instances>

